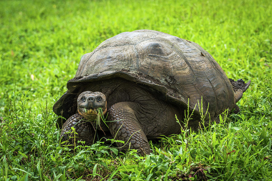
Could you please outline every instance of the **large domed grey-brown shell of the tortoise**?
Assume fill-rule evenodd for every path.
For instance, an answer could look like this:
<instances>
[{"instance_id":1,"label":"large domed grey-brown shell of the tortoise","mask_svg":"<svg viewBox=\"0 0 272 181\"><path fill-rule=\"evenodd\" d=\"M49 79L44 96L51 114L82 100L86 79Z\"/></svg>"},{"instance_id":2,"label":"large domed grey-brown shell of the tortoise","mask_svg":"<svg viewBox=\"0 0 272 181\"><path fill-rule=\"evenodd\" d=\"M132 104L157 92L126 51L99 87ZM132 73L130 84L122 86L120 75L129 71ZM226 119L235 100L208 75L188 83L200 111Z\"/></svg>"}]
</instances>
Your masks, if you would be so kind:
<instances>
[{"instance_id":1,"label":"large domed grey-brown shell of the tortoise","mask_svg":"<svg viewBox=\"0 0 272 181\"><path fill-rule=\"evenodd\" d=\"M55 103L53 111L69 118L76 113L80 87L118 77L184 108L189 98L190 110L202 98L204 112L209 103L211 118L235 105L228 77L201 46L159 31L136 30L109 38L83 55L75 78L68 81L68 90ZM194 115L199 116L198 106Z\"/></svg>"}]
</instances>

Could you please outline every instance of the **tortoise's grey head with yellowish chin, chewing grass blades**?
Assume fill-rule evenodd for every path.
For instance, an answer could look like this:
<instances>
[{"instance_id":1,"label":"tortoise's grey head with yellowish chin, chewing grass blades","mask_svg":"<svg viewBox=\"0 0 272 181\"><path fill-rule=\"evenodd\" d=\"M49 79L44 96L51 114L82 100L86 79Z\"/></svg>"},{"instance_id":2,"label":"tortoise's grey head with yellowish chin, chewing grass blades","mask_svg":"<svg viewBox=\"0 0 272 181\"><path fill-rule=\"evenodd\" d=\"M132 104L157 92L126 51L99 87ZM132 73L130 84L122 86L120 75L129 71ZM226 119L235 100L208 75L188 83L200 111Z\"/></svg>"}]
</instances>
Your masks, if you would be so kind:
<instances>
[{"instance_id":1,"label":"tortoise's grey head with yellowish chin, chewing grass blades","mask_svg":"<svg viewBox=\"0 0 272 181\"><path fill-rule=\"evenodd\" d=\"M107 111L106 96L101 92L85 91L77 98L77 110L85 119L95 120L99 111Z\"/></svg>"}]
</instances>

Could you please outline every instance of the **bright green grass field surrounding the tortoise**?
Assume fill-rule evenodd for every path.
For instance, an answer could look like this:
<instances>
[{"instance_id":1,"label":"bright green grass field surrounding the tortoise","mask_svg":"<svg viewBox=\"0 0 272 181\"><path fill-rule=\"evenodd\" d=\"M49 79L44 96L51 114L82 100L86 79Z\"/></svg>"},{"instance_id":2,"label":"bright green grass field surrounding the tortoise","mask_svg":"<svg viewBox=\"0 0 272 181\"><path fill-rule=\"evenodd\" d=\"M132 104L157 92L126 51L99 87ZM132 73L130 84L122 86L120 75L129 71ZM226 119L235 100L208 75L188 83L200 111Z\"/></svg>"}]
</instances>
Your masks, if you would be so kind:
<instances>
[{"instance_id":1,"label":"bright green grass field surrounding the tortoise","mask_svg":"<svg viewBox=\"0 0 272 181\"><path fill-rule=\"evenodd\" d=\"M272 180L272 4L264 1L0 1L2 180ZM52 106L81 56L124 31L194 41L229 78L251 80L241 114L150 141L62 154ZM183 120L181 120L183 121Z\"/></svg>"}]
</instances>

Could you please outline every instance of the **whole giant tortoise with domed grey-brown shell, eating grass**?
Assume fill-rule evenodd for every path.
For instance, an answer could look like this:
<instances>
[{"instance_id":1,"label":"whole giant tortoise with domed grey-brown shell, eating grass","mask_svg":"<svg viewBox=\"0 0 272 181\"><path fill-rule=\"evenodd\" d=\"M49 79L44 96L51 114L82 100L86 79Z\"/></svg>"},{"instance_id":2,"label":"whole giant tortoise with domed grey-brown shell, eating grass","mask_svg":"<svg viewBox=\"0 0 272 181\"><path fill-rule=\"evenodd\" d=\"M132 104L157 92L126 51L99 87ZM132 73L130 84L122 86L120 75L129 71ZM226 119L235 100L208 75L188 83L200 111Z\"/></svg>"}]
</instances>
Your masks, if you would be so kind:
<instances>
[{"instance_id":1,"label":"whole giant tortoise with domed grey-brown shell, eating grass","mask_svg":"<svg viewBox=\"0 0 272 181\"><path fill-rule=\"evenodd\" d=\"M203 101L205 124L218 120L236 102L250 81L228 79L219 64L198 44L154 30L120 33L82 56L76 76L53 106L62 140L92 144L95 135L112 135L120 150L149 154L149 139L180 133L184 110ZM106 122L96 120L102 110ZM101 115L100 115L101 116ZM199 128L200 108L188 125ZM67 120L66 120L67 119ZM66 121L65 121L66 120ZM106 124L105 124L106 123ZM72 142L71 142L72 141ZM74 140L75 141L75 140Z\"/></svg>"}]
</instances>

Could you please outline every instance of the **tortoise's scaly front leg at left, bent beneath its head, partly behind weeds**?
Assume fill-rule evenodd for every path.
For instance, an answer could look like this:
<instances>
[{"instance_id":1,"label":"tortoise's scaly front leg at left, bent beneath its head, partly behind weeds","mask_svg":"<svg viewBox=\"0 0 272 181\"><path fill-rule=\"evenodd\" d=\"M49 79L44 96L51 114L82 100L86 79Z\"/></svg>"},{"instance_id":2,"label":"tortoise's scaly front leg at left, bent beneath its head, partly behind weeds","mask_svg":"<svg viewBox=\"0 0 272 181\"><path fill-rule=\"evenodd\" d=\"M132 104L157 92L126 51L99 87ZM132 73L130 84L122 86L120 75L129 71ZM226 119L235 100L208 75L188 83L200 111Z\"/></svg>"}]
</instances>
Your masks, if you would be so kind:
<instances>
[{"instance_id":1,"label":"tortoise's scaly front leg at left, bent beneath its head, partly behind weeds","mask_svg":"<svg viewBox=\"0 0 272 181\"><path fill-rule=\"evenodd\" d=\"M75 128L77 134L72 133L71 127ZM74 139L76 138L76 139ZM60 141L68 141L66 145L69 148L74 148L74 144L78 144L78 141L85 141L85 145L92 145L95 138L95 131L90 124L86 121L80 114L74 114L62 126L62 131L60 133Z\"/></svg>"}]
</instances>

